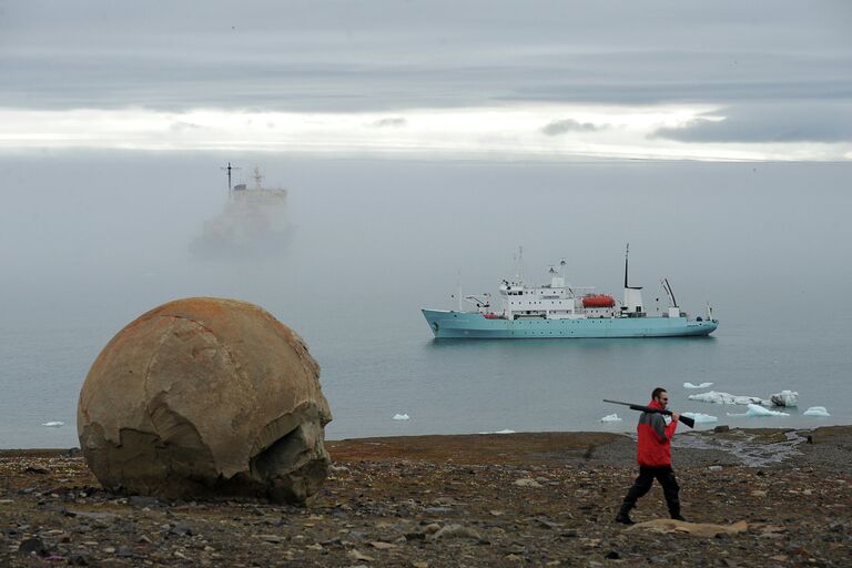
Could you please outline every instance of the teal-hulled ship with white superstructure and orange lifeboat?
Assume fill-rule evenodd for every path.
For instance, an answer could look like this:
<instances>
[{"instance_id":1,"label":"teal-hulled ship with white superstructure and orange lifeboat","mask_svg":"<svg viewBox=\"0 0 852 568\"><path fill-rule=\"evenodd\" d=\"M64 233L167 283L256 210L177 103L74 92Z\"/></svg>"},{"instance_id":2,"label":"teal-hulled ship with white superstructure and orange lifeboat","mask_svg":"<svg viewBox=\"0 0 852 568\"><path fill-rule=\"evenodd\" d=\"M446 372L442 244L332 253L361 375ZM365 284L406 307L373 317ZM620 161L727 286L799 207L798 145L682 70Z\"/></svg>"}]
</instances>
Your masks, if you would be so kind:
<instances>
[{"instance_id":1,"label":"teal-hulled ship with white superstructure and orange lifeboat","mask_svg":"<svg viewBox=\"0 0 852 568\"><path fill-rule=\"evenodd\" d=\"M670 307L649 316L642 304L642 288L628 285L628 252L625 254L625 296L617 305L607 294L592 288L566 285L565 261L550 266L550 284L531 286L518 276L500 284L500 307L494 311L490 294L466 296L476 311L423 310L436 338L524 339L545 337L683 337L710 335L719 326L712 310L707 317L691 318L674 300L668 280L662 287Z\"/></svg>"}]
</instances>

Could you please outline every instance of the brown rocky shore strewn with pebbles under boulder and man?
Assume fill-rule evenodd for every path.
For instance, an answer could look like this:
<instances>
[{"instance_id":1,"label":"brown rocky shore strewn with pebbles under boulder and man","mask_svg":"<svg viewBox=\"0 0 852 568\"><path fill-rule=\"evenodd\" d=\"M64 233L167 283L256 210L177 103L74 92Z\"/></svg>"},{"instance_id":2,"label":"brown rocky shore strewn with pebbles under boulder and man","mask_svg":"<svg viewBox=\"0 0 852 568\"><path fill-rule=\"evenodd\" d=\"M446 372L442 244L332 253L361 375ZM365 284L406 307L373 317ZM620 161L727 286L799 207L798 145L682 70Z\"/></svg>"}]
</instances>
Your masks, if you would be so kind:
<instances>
[{"instance_id":1,"label":"brown rocky shore strewn with pebbles under boulder and man","mask_svg":"<svg viewBox=\"0 0 852 568\"><path fill-rule=\"evenodd\" d=\"M612 523L635 443L606 433L328 442L305 508L109 494L73 450L0 450L0 566L850 566L852 427L678 434Z\"/></svg>"}]
</instances>

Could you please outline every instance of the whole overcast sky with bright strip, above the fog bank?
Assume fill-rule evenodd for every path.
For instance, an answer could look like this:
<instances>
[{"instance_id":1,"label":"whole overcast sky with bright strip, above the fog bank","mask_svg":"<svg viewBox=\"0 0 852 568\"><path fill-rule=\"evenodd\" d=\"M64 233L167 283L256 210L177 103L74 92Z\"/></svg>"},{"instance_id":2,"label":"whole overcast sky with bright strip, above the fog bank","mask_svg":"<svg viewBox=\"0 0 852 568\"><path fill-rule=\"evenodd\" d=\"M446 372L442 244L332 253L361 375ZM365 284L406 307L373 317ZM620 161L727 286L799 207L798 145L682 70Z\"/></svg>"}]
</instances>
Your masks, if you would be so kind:
<instances>
[{"instance_id":1,"label":"whole overcast sky with bright strip, above the fog bank","mask_svg":"<svg viewBox=\"0 0 852 568\"><path fill-rule=\"evenodd\" d=\"M0 0L0 152L852 160L848 1Z\"/></svg>"}]
</instances>

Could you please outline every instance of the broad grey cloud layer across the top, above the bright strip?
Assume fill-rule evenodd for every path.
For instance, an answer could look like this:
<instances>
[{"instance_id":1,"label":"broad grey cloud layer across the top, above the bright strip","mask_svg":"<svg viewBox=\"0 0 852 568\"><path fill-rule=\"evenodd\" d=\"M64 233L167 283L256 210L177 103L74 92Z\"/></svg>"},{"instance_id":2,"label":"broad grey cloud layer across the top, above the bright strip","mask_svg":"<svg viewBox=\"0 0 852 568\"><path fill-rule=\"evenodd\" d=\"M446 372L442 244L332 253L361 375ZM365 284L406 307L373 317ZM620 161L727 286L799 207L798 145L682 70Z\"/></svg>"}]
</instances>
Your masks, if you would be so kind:
<instances>
[{"instance_id":1,"label":"broad grey cloud layer across the top, above the bright strip","mask_svg":"<svg viewBox=\"0 0 852 568\"><path fill-rule=\"evenodd\" d=\"M852 98L852 9L759 0L7 2L18 108L381 111ZM416 23L416 24L415 24Z\"/></svg>"}]
</instances>

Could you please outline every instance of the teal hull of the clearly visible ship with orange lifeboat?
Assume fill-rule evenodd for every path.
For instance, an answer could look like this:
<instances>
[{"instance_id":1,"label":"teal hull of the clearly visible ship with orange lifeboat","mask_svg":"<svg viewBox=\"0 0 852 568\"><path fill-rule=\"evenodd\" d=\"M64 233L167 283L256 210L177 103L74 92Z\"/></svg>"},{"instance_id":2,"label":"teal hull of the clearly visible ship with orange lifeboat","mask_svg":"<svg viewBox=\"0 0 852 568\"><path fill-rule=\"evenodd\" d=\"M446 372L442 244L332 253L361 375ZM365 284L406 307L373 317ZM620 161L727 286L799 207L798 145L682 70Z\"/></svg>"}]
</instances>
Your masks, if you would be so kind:
<instances>
[{"instance_id":1,"label":"teal hull of the clearly visible ship with orange lifeboat","mask_svg":"<svg viewBox=\"0 0 852 568\"><path fill-rule=\"evenodd\" d=\"M544 339L604 337L687 337L710 335L718 322L686 317L600 317L580 320L489 320L476 312L423 310L436 338Z\"/></svg>"}]
</instances>

